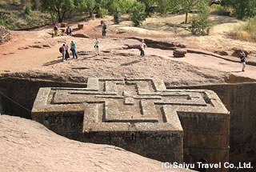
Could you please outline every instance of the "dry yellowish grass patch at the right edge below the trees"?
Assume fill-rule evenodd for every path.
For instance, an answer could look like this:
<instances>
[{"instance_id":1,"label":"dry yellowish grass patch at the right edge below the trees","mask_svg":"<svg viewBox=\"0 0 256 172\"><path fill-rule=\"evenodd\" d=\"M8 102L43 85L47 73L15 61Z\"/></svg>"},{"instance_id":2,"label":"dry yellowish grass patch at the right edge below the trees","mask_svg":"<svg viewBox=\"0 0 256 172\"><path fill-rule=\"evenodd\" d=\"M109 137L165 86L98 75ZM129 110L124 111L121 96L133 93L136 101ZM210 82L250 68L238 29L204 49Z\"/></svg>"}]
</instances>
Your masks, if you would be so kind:
<instances>
[{"instance_id":1,"label":"dry yellowish grass patch at the right edge below the trees","mask_svg":"<svg viewBox=\"0 0 256 172\"><path fill-rule=\"evenodd\" d=\"M230 36L243 41L256 42L256 17L250 18L245 25L236 27L230 32Z\"/></svg>"}]
</instances>

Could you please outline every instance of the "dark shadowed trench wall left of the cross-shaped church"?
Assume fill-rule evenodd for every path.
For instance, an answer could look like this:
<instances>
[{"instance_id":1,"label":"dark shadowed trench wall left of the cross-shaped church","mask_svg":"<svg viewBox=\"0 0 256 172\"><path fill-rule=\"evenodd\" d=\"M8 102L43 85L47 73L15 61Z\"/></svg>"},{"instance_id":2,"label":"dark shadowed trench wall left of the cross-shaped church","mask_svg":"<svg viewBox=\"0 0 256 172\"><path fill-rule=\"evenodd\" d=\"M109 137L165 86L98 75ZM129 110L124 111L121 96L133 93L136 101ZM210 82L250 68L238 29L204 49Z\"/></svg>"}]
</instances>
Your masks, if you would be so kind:
<instances>
[{"instance_id":1,"label":"dark shadowed trench wall left of the cross-shaped church","mask_svg":"<svg viewBox=\"0 0 256 172\"><path fill-rule=\"evenodd\" d=\"M58 82L50 80L39 80L30 78L0 78L0 91L2 93L18 102L19 105L26 109L18 106L17 103L12 102L0 94L1 102L5 105L11 106L2 107L2 111L5 110L6 114L19 116L22 118L31 119L31 113L34 105L34 99L38 94L40 87L85 87L86 83L72 83L72 82ZM4 91L3 91L4 90ZM7 109L7 110L6 110Z\"/></svg>"}]
</instances>

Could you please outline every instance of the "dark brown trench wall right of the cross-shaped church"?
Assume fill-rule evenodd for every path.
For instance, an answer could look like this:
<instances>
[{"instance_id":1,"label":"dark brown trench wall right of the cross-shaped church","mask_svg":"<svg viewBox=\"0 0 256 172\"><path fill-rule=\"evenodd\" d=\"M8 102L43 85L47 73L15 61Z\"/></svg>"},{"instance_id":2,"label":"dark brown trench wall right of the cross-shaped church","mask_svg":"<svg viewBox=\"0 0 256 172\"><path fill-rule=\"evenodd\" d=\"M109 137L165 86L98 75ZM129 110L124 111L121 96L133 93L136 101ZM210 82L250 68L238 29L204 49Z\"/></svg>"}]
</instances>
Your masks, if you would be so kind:
<instances>
[{"instance_id":1,"label":"dark brown trench wall right of the cross-shaped church","mask_svg":"<svg viewBox=\"0 0 256 172\"><path fill-rule=\"evenodd\" d=\"M256 83L206 86L166 86L167 88L214 90L230 111L230 162L251 162L256 168ZM238 171L238 170L230 170Z\"/></svg>"}]
</instances>

